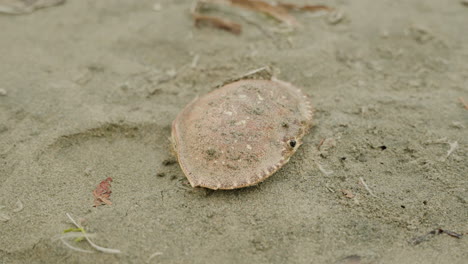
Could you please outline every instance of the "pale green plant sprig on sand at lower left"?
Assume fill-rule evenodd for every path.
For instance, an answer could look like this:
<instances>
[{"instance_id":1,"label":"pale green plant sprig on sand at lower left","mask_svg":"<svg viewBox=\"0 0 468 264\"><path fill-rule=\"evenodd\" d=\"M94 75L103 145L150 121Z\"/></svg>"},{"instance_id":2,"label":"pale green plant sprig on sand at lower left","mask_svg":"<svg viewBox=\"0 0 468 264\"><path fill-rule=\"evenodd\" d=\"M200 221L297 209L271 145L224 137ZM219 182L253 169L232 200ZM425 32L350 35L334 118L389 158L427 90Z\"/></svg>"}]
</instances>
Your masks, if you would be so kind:
<instances>
[{"instance_id":1,"label":"pale green plant sprig on sand at lower left","mask_svg":"<svg viewBox=\"0 0 468 264\"><path fill-rule=\"evenodd\" d=\"M79 241L82 241L83 239L86 239L86 241L89 243L89 245L91 247L93 247L94 249L96 249L97 251L100 251L100 252L103 252L103 253L109 253L109 254L119 254L121 253L120 250L118 249L112 249L112 248L105 248L105 247L101 247L101 246L98 246L96 245L93 241L91 241L90 237L93 237L94 234L89 234L85 231L85 229L83 228L83 226L81 226L80 224L78 224L78 222L76 222L69 213L67 213L67 217L68 219L70 219L70 221L72 221L72 223L76 226L76 228L70 228L70 229L66 229L63 231L64 234L56 237L56 239L60 239L60 241L62 241L62 243L72 249L72 250L75 250L75 251L78 251L78 252L83 252L83 253L94 253L95 251L91 251L91 250L86 250L86 249L82 249L82 248L79 248L79 247L75 247L75 246L72 246L67 240L66 238L75 238L75 242L79 242Z\"/></svg>"}]
</instances>

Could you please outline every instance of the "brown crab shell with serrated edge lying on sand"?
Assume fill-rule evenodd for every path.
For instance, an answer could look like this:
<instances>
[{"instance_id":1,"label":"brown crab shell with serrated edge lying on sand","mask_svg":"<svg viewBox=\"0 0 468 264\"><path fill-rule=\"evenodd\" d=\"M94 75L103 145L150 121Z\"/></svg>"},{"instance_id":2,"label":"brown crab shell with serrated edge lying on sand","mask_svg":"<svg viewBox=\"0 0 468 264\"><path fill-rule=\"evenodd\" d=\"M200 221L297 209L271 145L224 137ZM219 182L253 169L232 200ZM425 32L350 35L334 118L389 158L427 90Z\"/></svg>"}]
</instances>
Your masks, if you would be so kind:
<instances>
[{"instance_id":1,"label":"brown crab shell with serrated edge lying on sand","mask_svg":"<svg viewBox=\"0 0 468 264\"><path fill-rule=\"evenodd\" d=\"M257 184L289 161L312 124L300 89L279 80L240 80L189 103L172 143L192 187Z\"/></svg>"}]
</instances>

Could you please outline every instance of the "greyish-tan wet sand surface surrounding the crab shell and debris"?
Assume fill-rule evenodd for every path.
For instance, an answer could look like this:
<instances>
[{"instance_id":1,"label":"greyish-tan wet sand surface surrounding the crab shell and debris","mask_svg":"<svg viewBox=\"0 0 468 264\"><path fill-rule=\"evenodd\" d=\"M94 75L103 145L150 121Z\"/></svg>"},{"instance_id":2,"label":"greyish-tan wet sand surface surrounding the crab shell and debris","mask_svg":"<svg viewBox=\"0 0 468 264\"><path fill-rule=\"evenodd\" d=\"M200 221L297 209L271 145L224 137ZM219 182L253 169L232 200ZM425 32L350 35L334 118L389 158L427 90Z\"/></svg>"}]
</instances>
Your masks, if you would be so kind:
<instances>
[{"instance_id":1,"label":"greyish-tan wet sand surface surrounding the crab shell and debris","mask_svg":"<svg viewBox=\"0 0 468 264\"><path fill-rule=\"evenodd\" d=\"M468 232L468 7L326 2L343 17L294 13L295 31L210 11L241 35L195 28L182 0L0 15L0 263L466 263L468 237L411 241ZM172 120L264 65L310 96L304 145L257 186L192 189ZM65 247L66 213L122 253Z\"/></svg>"}]
</instances>

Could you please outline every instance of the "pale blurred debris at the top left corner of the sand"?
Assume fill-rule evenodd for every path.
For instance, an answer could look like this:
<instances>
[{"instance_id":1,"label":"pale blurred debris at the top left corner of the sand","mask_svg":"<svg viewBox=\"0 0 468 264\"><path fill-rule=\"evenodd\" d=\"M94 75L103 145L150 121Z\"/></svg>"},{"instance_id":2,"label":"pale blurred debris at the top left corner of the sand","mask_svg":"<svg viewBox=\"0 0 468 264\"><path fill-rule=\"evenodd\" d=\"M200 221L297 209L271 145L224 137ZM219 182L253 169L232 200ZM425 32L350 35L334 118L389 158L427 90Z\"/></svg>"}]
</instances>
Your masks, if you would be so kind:
<instances>
[{"instance_id":1,"label":"pale blurred debris at the top left corner of the sand","mask_svg":"<svg viewBox=\"0 0 468 264\"><path fill-rule=\"evenodd\" d=\"M9 15L29 14L37 9L57 6L65 0L0 0L0 13Z\"/></svg>"}]
</instances>

